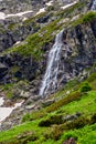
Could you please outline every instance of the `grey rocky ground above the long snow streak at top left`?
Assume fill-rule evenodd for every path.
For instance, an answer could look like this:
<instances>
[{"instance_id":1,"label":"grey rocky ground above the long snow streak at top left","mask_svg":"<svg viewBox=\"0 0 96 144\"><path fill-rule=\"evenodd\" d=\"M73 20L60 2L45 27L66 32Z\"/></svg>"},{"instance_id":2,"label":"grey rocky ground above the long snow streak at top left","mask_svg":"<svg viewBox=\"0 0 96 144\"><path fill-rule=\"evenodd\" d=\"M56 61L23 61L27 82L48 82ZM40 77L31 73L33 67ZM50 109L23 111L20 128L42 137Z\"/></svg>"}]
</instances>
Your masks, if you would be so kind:
<instances>
[{"instance_id":1,"label":"grey rocky ground above the long snow streak at top left","mask_svg":"<svg viewBox=\"0 0 96 144\"><path fill-rule=\"evenodd\" d=\"M9 13L18 13L21 11L36 11L40 8L45 7L47 3L50 6L51 2L55 2L56 4L65 6L67 3L74 2L74 0L1 0L0 1L0 11L9 14ZM12 7L11 7L12 6Z\"/></svg>"}]
</instances>

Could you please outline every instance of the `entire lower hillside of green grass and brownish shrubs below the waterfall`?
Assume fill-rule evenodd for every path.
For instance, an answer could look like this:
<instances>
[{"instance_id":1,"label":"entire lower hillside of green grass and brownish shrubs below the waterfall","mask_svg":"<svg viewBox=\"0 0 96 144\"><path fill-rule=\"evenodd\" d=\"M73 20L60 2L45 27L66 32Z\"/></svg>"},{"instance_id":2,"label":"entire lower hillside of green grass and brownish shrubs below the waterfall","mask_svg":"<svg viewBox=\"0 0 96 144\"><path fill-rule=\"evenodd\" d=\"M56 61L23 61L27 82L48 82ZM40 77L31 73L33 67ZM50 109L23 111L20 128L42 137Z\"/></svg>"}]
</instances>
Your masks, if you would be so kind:
<instances>
[{"instance_id":1,"label":"entire lower hillside of green grass and brownish shrubs below the waterfall","mask_svg":"<svg viewBox=\"0 0 96 144\"><path fill-rule=\"evenodd\" d=\"M26 113L22 120L24 123L1 132L0 142L3 142L2 144L62 144L65 140L74 137L77 144L95 144L96 90L93 88L96 79L93 78L95 73L86 80L92 85L92 90L87 93L81 92L86 82L78 83L79 86L71 94L43 110ZM61 90L61 93L63 94L64 90ZM61 97L61 93L57 93L56 97ZM63 121L63 117L77 112L81 113L77 119Z\"/></svg>"}]
</instances>

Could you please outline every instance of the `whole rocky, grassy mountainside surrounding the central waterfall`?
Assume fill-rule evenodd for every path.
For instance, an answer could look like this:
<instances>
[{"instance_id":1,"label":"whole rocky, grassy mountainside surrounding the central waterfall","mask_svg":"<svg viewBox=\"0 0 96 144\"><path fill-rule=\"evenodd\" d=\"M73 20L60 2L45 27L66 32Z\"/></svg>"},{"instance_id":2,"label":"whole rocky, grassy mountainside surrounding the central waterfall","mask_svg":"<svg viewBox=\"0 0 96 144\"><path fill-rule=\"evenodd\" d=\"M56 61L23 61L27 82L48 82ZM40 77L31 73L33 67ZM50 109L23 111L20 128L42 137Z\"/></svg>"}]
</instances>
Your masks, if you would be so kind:
<instances>
[{"instance_id":1,"label":"whole rocky, grassy mountainside surrounding the central waterfall","mask_svg":"<svg viewBox=\"0 0 96 144\"><path fill-rule=\"evenodd\" d=\"M6 2L8 1L3 1ZM22 1L12 2L15 10L17 6L22 3ZM22 3L21 10L32 10L29 7L33 7L30 2L34 1L23 2L25 7ZM35 9L34 13L24 13L22 17L14 16L21 11L14 10L13 13L13 8L9 9L10 2L6 3L7 8L2 8L6 14L10 14L10 10L13 14L1 20L0 25L0 95L4 97L2 106L13 107L20 102L23 104L13 110L1 123L1 131L18 124L20 126L1 132L0 143L62 144L73 137L79 144L94 144L96 143L96 12L88 11L93 2L64 0L50 2L49 7L46 2L43 3L36 1L38 10ZM43 7L45 11L36 13ZM64 30L66 38L64 42L71 51L67 52L63 45L57 88L54 92L50 90L42 99L39 91L47 55L61 30Z\"/></svg>"}]
</instances>

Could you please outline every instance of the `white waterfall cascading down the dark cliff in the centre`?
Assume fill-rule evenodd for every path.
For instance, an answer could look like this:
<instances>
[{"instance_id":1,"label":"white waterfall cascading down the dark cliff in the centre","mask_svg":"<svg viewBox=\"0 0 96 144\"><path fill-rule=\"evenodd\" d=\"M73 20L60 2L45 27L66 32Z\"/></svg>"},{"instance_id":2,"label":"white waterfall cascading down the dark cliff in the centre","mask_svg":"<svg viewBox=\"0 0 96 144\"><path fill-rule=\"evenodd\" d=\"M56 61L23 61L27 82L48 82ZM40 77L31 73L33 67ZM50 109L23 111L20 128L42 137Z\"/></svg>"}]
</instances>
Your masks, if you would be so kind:
<instances>
[{"instance_id":1,"label":"white waterfall cascading down the dark cliff in the centre","mask_svg":"<svg viewBox=\"0 0 96 144\"><path fill-rule=\"evenodd\" d=\"M57 84L58 62L62 50L63 30L56 35L55 43L49 53L47 66L39 95L44 96L49 91L55 91Z\"/></svg>"}]
</instances>

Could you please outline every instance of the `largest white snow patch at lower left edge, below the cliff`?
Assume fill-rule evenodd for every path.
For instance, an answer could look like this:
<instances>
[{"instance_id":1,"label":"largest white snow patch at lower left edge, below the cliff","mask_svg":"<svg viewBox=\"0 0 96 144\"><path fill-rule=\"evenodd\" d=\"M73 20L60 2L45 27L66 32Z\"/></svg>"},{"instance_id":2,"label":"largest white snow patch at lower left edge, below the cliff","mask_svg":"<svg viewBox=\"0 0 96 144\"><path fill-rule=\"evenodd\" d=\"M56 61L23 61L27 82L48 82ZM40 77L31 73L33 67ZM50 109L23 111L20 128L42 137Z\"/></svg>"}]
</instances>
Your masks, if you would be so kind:
<instances>
[{"instance_id":1,"label":"largest white snow patch at lower left edge, below the cliff","mask_svg":"<svg viewBox=\"0 0 96 144\"><path fill-rule=\"evenodd\" d=\"M22 105L23 101L20 103L15 103L14 106L12 107L0 107L0 123L6 120L13 110L15 110L17 107L20 107Z\"/></svg>"}]
</instances>

